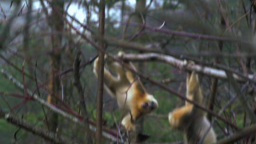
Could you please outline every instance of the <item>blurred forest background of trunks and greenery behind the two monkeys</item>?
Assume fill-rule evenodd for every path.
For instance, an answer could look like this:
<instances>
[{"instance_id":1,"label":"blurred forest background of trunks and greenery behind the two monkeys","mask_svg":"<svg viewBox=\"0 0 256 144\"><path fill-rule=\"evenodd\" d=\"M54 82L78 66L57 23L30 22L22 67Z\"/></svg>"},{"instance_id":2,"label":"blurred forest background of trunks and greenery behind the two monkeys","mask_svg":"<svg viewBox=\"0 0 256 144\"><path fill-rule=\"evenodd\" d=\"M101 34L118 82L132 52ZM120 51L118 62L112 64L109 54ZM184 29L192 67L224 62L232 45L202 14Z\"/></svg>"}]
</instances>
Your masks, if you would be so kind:
<instances>
[{"instance_id":1,"label":"blurred forest background of trunks and greenery behind the two monkeys","mask_svg":"<svg viewBox=\"0 0 256 144\"><path fill-rule=\"evenodd\" d=\"M203 106L218 140L248 127L255 134L255 0L101 1L103 22L100 0L0 0L0 144L95 142L92 62L102 47L99 23L106 52L130 54L126 60L134 61L158 101L145 117L145 144L183 143L168 113L184 105L180 96L191 70L200 73ZM117 132L121 115L104 91L102 144L126 141ZM234 143L253 140L247 133Z\"/></svg>"}]
</instances>

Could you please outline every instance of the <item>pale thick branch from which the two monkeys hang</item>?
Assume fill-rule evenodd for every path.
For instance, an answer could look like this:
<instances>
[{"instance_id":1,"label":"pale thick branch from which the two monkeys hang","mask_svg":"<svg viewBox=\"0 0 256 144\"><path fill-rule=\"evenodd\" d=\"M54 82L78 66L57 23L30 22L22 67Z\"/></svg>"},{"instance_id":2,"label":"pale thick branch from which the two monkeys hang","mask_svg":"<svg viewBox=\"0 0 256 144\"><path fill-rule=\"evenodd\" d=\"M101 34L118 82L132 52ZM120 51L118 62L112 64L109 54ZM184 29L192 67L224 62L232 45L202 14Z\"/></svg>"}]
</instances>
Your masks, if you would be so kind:
<instances>
[{"instance_id":1,"label":"pale thick branch from which the two monkeys hang","mask_svg":"<svg viewBox=\"0 0 256 144\"><path fill-rule=\"evenodd\" d=\"M211 68L208 66L201 66L198 64L187 64L185 61L177 59L173 56L165 55L165 54L156 54L156 53L149 53L149 54L125 54L122 56L123 60L128 61L149 61L149 60L157 60L162 61L168 64L171 64L174 67L177 68L183 68L187 71L196 71L201 72L206 75L214 76L216 78L220 79L227 79L227 75L225 71ZM242 78L241 76L238 76L238 74L233 73L234 78L237 81L246 81L247 79L253 82L256 82L256 79L252 74L249 74L248 76L244 76ZM246 79L245 79L246 78Z\"/></svg>"}]
</instances>

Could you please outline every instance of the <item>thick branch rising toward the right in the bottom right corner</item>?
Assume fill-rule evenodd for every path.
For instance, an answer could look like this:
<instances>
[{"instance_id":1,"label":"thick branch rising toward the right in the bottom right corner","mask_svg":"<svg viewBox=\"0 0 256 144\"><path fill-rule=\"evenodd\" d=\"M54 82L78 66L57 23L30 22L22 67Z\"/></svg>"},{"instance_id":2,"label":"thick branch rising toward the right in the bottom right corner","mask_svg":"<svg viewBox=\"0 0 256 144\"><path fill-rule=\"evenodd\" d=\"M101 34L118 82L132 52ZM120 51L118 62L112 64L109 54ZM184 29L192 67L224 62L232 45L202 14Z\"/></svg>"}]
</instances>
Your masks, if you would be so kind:
<instances>
[{"instance_id":1,"label":"thick branch rising toward the right in the bottom right corner","mask_svg":"<svg viewBox=\"0 0 256 144\"><path fill-rule=\"evenodd\" d=\"M232 135L229 138L224 138L219 140L217 144L231 144L233 142L238 141L239 139L242 139L248 135L253 135L256 133L256 125L252 125L248 128L244 128L239 133L236 133L235 135Z\"/></svg>"}]
</instances>

